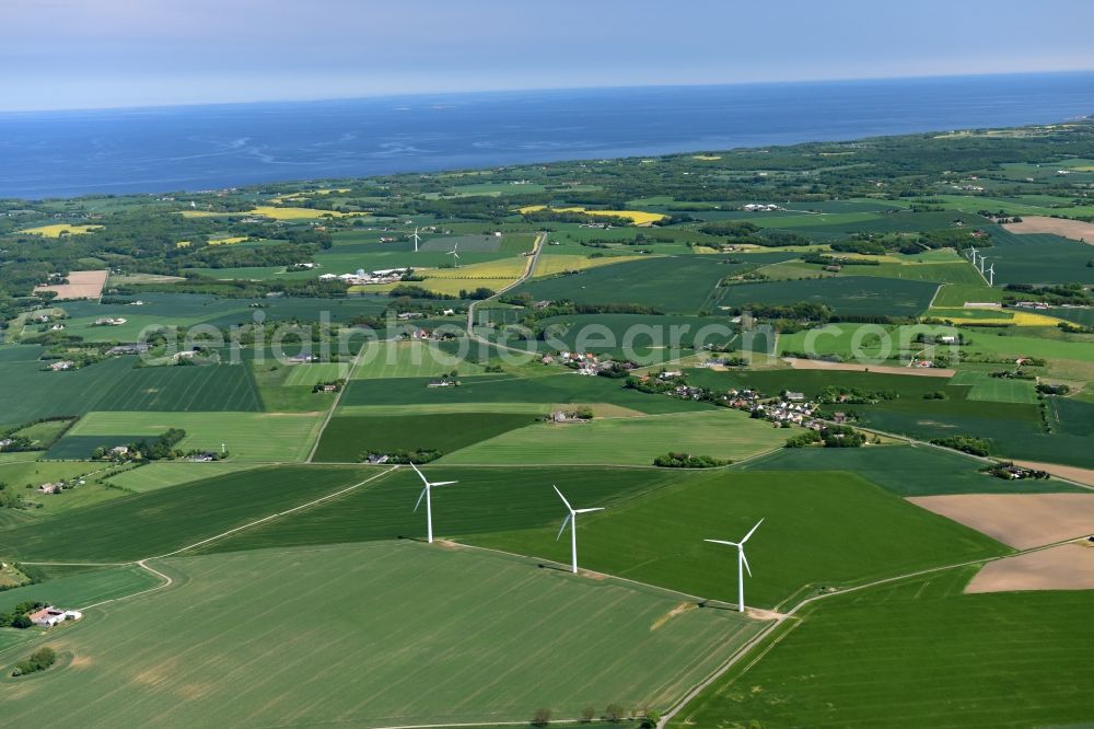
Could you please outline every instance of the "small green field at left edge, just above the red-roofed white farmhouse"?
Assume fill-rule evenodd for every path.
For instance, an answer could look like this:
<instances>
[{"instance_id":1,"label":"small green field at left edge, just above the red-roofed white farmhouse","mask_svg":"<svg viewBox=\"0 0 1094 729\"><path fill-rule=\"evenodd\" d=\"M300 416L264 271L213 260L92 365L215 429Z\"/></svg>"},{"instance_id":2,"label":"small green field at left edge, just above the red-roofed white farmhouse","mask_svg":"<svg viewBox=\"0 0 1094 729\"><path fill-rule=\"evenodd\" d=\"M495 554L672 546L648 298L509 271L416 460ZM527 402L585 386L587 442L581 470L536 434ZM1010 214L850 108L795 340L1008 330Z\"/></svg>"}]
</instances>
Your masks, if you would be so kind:
<instances>
[{"instance_id":1,"label":"small green field at left edge, just above the red-roofed white farmhouse","mask_svg":"<svg viewBox=\"0 0 1094 729\"><path fill-rule=\"evenodd\" d=\"M19 603L31 600L65 610L81 610L98 602L148 590L162 581L137 565L96 569L0 592L0 613L10 612Z\"/></svg>"}]
</instances>

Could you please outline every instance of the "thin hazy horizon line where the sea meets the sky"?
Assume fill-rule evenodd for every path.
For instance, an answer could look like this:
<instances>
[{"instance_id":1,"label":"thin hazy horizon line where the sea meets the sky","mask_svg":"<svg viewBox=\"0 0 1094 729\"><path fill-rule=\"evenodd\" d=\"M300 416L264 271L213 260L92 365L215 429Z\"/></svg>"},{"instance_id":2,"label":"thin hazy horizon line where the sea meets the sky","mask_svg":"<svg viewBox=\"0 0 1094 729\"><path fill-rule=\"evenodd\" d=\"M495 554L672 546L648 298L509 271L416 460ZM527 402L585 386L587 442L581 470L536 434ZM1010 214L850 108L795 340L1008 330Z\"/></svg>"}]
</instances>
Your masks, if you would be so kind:
<instances>
[{"instance_id":1,"label":"thin hazy horizon line where the sea meets the sky","mask_svg":"<svg viewBox=\"0 0 1094 729\"><path fill-rule=\"evenodd\" d=\"M697 82L697 83L650 83L650 84L619 84L619 85L574 85L574 86L534 86L534 88L497 88L497 89L466 89L461 91L435 90L416 91L408 93L377 93L357 94L351 96L316 96L316 97L283 97L283 99L255 99L247 101L208 101L208 102L178 102L171 104L118 104L105 106L57 106L49 108L14 108L0 109L0 117L25 115L25 114L67 114L80 112L126 112L126 111L158 111L177 108L199 108L210 106L259 106L265 104L321 104L329 102L353 102L353 101L383 101L399 99L421 99L423 96L468 96L474 94L507 94L507 93L544 93L544 92L567 92L567 91L625 91L640 89L718 89L728 86L775 86L795 84L826 84L826 83L864 83L877 81L928 81L928 80L957 80L957 79L986 79L986 78L1014 78L1014 77L1038 77L1038 76L1069 76L1094 73L1094 68L1056 69L1047 71L1002 71L985 73L944 73L944 74L908 74L908 76L885 76L885 77L833 77L823 79L790 79L790 80L767 80L767 81L726 81L726 82Z\"/></svg>"}]
</instances>

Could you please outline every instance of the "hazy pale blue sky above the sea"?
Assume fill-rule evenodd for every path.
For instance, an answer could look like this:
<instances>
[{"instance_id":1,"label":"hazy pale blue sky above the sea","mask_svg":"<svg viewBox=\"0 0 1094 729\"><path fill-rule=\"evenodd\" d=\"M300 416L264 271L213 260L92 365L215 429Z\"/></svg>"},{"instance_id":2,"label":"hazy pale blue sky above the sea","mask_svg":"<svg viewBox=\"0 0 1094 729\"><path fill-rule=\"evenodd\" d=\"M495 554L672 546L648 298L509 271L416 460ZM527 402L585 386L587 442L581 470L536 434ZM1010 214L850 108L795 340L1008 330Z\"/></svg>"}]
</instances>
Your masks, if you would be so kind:
<instances>
[{"instance_id":1,"label":"hazy pale blue sky above the sea","mask_svg":"<svg viewBox=\"0 0 1094 729\"><path fill-rule=\"evenodd\" d=\"M1094 69L1091 0L0 0L0 111Z\"/></svg>"}]
</instances>

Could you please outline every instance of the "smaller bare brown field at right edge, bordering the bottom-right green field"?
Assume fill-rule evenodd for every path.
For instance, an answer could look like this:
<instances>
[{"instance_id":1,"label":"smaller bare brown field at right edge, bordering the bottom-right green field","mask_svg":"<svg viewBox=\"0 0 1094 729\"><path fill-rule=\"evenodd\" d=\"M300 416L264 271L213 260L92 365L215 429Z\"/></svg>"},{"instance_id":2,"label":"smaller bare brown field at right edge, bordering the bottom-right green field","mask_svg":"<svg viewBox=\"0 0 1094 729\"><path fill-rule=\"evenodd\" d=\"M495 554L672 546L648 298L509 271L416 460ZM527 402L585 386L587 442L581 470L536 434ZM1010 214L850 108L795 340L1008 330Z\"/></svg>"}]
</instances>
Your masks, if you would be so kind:
<instances>
[{"instance_id":1,"label":"smaller bare brown field at right edge, bordering the bottom-right green field","mask_svg":"<svg viewBox=\"0 0 1094 729\"><path fill-rule=\"evenodd\" d=\"M1061 544L985 565L965 592L1089 590L1094 588L1094 546Z\"/></svg>"}]
</instances>

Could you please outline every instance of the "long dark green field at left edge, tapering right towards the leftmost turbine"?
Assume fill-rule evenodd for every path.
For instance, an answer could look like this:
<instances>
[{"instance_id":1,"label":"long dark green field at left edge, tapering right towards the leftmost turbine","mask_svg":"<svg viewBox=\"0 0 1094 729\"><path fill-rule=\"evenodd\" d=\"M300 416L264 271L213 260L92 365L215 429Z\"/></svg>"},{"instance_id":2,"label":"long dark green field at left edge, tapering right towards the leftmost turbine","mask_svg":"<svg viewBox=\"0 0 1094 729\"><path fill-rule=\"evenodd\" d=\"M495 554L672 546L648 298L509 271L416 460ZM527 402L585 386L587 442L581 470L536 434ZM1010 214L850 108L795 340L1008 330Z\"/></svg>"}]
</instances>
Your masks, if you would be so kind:
<instances>
[{"instance_id":1,"label":"long dark green field at left edge, tapering right towards the leftmost turbine","mask_svg":"<svg viewBox=\"0 0 1094 729\"><path fill-rule=\"evenodd\" d=\"M181 549L382 473L282 466L136 494L0 532L0 555L33 562L123 562Z\"/></svg>"}]
</instances>

